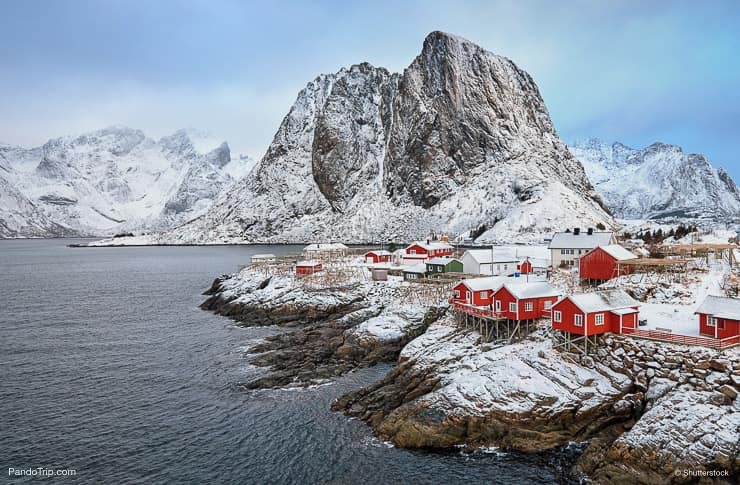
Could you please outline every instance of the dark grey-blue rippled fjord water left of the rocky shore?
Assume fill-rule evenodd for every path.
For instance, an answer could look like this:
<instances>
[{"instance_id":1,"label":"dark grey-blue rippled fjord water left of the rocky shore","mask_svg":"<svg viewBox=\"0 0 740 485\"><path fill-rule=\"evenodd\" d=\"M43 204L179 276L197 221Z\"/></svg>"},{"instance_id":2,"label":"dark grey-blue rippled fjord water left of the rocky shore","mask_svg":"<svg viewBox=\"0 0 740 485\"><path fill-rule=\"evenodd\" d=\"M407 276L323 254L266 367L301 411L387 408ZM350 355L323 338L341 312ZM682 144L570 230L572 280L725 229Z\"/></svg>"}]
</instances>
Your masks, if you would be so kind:
<instances>
[{"instance_id":1,"label":"dark grey-blue rippled fjord water left of the rocky shore","mask_svg":"<svg viewBox=\"0 0 740 485\"><path fill-rule=\"evenodd\" d=\"M390 447L329 410L390 366L310 389L243 391L275 328L198 309L212 279L288 246L68 248L0 241L1 472L79 483L547 483L557 454ZM560 478L562 479L562 478ZM26 482L36 479L18 479Z\"/></svg>"}]
</instances>

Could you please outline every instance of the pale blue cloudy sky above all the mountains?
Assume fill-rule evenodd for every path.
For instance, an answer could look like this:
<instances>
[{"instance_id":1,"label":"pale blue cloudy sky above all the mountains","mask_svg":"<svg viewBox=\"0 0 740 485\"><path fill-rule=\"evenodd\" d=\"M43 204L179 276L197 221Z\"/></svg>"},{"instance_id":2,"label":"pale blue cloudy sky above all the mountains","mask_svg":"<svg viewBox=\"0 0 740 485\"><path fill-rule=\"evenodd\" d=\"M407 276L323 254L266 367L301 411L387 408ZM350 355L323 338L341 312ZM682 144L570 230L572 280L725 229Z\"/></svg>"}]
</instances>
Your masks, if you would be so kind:
<instances>
[{"instance_id":1,"label":"pale blue cloudy sky above all the mountains","mask_svg":"<svg viewBox=\"0 0 740 485\"><path fill-rule=\"evenodd\" d=\"M566 142L674 143L740 179L740 2L5 0L0 12L6 143L195 127L259 157L317 74L401 71L445 30L529 71Z\"/></svg>"}]
</instances>

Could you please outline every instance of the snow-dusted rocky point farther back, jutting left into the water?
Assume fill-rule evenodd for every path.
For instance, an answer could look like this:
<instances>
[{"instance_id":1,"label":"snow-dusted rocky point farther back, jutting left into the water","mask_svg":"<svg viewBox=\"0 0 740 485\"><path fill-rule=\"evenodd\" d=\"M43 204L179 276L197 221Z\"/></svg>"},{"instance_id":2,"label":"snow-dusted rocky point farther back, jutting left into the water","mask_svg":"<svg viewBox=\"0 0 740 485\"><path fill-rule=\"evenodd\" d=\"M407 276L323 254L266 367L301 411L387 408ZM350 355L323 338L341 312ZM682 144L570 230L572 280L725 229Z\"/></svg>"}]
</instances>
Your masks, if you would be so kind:
<instances>
[{"instance_id":1,"label":"snow-dusted rocky point farther back, jutting left into the water","mask_svg":"<svg viewBox=\"0 0 740 485\"><path fill-rule=\"evenodd\" d=\"M242 270L206 291L201 308L242 326L289 329L250 348L250 363L269 369L247 389L320 384L357 368L393 362L445 307L394 307L387 288L372 282L319 290L294 278ZM392 293L392 289L391 289Z\"/></svg>"}]
</instances>

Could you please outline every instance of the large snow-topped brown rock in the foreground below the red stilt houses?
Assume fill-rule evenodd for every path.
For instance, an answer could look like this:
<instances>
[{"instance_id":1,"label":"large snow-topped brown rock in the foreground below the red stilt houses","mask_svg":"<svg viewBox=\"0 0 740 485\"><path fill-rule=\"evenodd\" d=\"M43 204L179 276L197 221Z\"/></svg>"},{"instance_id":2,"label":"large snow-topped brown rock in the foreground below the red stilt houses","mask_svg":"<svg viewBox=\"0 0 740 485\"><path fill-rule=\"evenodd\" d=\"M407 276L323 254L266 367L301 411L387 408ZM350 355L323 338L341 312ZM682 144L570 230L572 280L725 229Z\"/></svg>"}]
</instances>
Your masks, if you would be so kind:
<instances>
[{"instance_id":1,"label":"large snow-topped brown rock in the foreground below the red stilt houses","mask_svg":"<svg viewBox=\"0 0 740 485\"><path fill-rule=\"evenodd\" d=\"M384 380L333 408L404 447L495 445L537 451L588 439L634 412L630 380L569 363L547 340L488 348L475 333L433 324Z\"/></svg>"}]
</instances>

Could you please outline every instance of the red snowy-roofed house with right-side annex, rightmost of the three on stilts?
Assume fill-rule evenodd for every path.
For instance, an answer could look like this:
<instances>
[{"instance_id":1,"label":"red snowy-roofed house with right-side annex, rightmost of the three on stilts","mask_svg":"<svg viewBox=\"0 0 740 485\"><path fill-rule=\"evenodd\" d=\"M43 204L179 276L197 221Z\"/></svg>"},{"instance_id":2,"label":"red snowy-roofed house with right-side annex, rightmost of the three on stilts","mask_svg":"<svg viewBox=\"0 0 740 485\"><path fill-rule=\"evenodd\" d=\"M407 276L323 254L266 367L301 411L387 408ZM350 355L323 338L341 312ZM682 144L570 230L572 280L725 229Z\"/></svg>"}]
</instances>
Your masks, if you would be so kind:
<instances>
[{"instance_id":1,"label":"red snowy-roofed house with right-side annex, rightmost of the three on stilts","mask_svg":"<svg viewBox=\"0 0 740 485\"><path fill-rule=\"evenodd\" d=\"M552 307L552 328L577 335L622 333L638 327L638 308L624 290L566 296Z\"/></svg>"}]
</instances>

